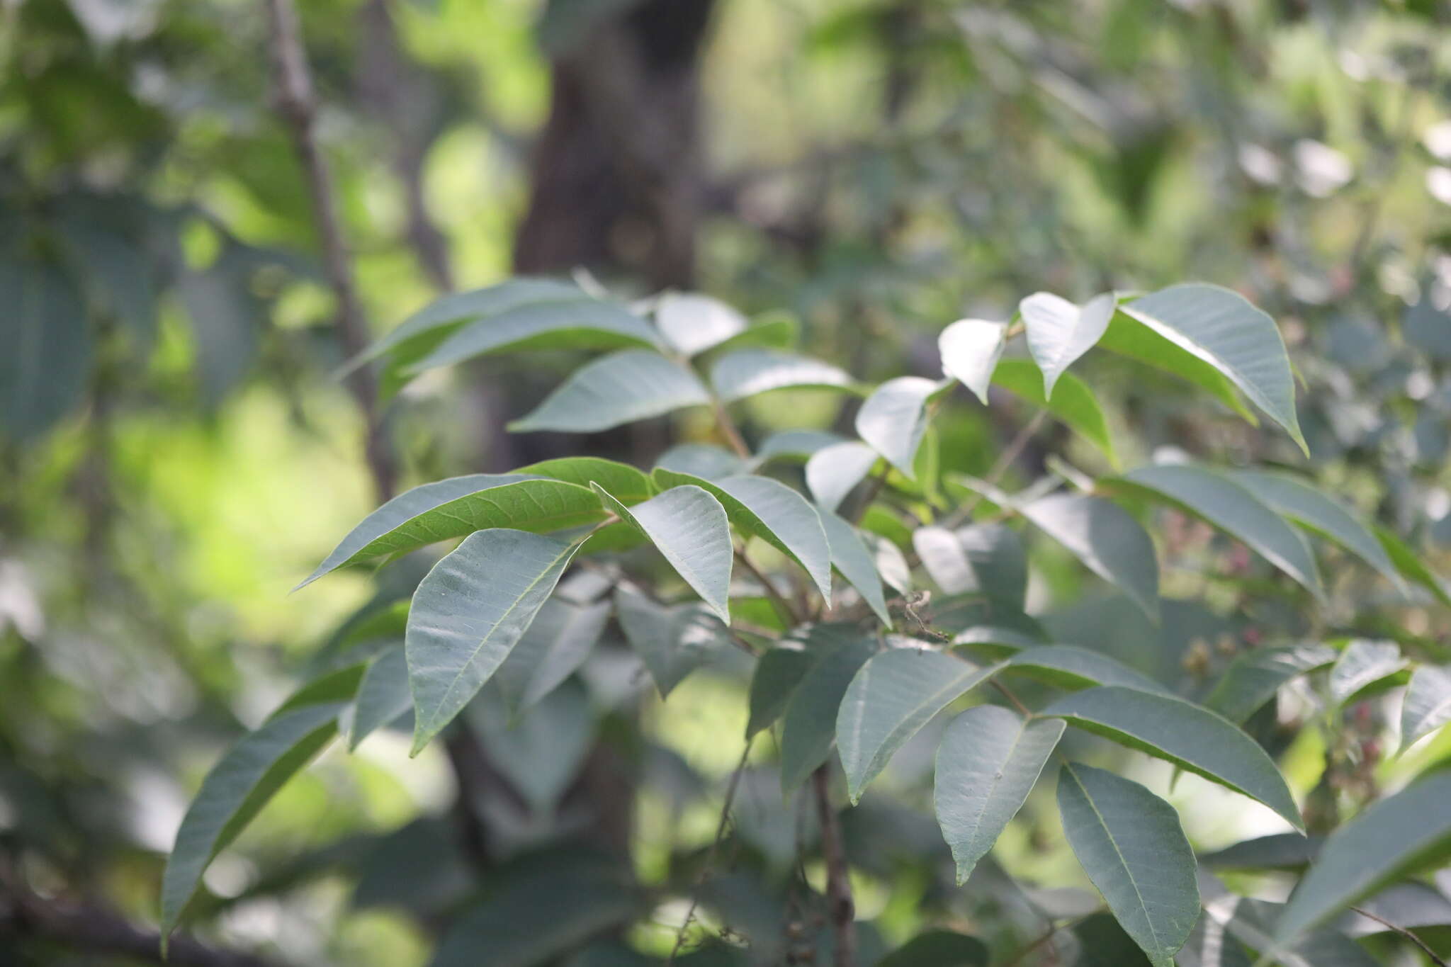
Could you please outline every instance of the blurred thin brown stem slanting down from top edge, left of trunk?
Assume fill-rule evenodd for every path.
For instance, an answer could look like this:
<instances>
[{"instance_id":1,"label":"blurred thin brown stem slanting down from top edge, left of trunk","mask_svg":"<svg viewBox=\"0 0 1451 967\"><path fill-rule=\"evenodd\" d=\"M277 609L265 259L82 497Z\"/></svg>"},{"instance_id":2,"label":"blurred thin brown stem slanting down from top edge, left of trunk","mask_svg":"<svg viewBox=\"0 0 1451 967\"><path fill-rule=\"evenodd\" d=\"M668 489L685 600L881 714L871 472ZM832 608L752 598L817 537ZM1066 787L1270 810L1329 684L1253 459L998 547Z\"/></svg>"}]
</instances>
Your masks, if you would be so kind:
<instances>
[{"instance_id":1,"label":"blurred thin brown stem slanting down from top edge, left of trunk","mask_svg":"<svg viewBox=\"0 0 1451 967\"><path fill-rule=\"evenodd\" d=\"M316 222L318 241L332 294L338 300L334 318L338 342L347 357L355 357L367 346L367 323L363 318L363 303L358 299L353 264L338 222L338 206L332 193L332 175L318 149L316 113L318 104L312 90L312 75L308 71L308 55L302 46L302 32L297 26L297 10L292 0L263 0L271 25L271 57L276 71L277 113L287 122L293 149L302 162L312 196L312 213ZM377 381L367 367L358 367L348 377L348 387L357 399L367 422L367 462L373 474L373 486L380 500L393 496L398 468L392 448L383 433L377 407Z\"/></svg>"}]
</instances>

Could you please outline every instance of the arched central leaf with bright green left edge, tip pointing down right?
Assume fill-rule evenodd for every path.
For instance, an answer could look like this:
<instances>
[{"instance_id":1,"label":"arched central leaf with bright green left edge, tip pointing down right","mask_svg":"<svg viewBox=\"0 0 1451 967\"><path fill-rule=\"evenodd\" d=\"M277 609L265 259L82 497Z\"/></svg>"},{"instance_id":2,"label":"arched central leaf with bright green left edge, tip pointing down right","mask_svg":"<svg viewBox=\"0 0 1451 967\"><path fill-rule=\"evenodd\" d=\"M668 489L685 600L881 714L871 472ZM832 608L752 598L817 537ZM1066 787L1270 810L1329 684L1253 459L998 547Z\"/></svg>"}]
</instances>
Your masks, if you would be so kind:
<instances>
[{"instance_id":1,"label":"arched central leaf with bright green left edge, tip pointing down right","mask_svg":"<svg viewBox=\"0 0 1451 967\"><path fill-rule=\"evenodd\" d=\"M831 597L831 547L817 509L786 484L750 474L710 481L670 470L656 470L662 490L694 484L711 493L743 534L757 536L800 564L821 597Z\"/></svg>"}]
</instances>

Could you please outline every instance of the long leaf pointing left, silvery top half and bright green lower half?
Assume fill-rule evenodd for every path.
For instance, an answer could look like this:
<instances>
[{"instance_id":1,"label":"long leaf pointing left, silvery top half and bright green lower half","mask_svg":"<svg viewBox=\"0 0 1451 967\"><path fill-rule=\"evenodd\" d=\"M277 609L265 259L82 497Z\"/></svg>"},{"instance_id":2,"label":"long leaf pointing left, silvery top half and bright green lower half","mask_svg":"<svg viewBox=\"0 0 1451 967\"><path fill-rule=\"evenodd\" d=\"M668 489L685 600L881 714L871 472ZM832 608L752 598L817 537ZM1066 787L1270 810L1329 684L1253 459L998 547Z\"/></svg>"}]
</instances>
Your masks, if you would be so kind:
<instances>
[{"instance_id":1,"label":"long leaf pointing left, silvery top half and bright green lower half","mask_svg":"<svg viewBox=\"0 0 1451 967\"><path fill-rule=\"evenodd\" d=\"M406 490L363 518L297 587L348 564L403 554L474 531L562 531L604 516L593 493L562 480L525 474L450 477Z\"/></svg>"}]
</instances>

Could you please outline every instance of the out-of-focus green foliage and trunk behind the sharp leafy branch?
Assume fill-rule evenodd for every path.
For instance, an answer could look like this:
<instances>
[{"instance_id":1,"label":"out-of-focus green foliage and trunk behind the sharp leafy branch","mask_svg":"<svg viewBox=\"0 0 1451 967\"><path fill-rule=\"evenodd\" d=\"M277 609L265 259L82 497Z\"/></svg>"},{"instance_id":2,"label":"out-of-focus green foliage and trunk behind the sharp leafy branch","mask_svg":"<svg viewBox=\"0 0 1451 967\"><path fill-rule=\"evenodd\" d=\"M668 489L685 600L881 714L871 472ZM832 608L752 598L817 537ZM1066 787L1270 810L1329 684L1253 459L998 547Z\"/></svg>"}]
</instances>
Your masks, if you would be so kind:
<instances>
[{"instance_id":1,"label":"out-of-focus green foliage and trunk behind the sharp leafy branch","mask_svg":"<svg viewBox=\"0 0 1451 967\"><path fill-rule=\"evenodd\" d=\"M1312 458L1093 358L1126 464L1162 448L1284 462L1451 570L1451 14L1434 0L309 0L300 14L374 335L447 290L582 268L622 293L785 310L805 348L876 380L926 373L943 325L1006 319L1039 289L1082 300L1201 278L1280 320ZM144 941L200 776L325 642L396 635L379 606L427 563L287 594L380 478L335 377L345 346L261 6L0 0L0 889ZM567 452L579 441L502 426L569 362L416 380L383 418L389 473L406 486ZM1008 397L959 407L942 461L984 473L1026 415ZM760 439L834 419L778 394L746 426ZM654 422L589 447L649 465L708 433ZM1049 455L1104 468L1049 428L1019 483ZM1187 599L1162 629L1051 549L1035 549L1032 610L1175 683L1246 644L1331 631L1451 657L1445 610L1364 570L1332 561L1312 615L1251 594L1262 576L1191 525L1161 557L1167 596ZM293 964L422 964L482 889L501 922L543 905L559 919L519 929L564 937L570 903L588 926L591 889L617 887L573 870L575 895L530 890L560 876L546 847L593 835L627 841L659 902L617 939L666 954L741 755L744 676L727 661L665 705L607 648L541 706L554 712L479 729L482 780L438 748L408 761L398 734L332 751L213 866L197 932ZM1284 732L1274 715L1259 726ZM1384 723L1357 728L1370 742ZM1331 808L1403 768L1319 735L1286 768ZM1432 745L1412 761L1451 751ZM846 813L866 942L948 919L1013 950L1072 897L987 867L950 889L920 809L932 747ZM1167 771L1145 780L1168 789ZM820 886L794 870L813 834L773 781L744 776L728 870L708 883L731 916L712 928L779 919L760 883ZM1171 800L1199 848L1270 829L1203 783ZM995 855L1029 883L1082 884L1053 822L1030 802ZM785 910L811 929L795 886ZM0 958L131 963L86 931L6 929L22 921L0 921ZM543 957L636 963L576 939Z\"/></svg>"}]
</instances>

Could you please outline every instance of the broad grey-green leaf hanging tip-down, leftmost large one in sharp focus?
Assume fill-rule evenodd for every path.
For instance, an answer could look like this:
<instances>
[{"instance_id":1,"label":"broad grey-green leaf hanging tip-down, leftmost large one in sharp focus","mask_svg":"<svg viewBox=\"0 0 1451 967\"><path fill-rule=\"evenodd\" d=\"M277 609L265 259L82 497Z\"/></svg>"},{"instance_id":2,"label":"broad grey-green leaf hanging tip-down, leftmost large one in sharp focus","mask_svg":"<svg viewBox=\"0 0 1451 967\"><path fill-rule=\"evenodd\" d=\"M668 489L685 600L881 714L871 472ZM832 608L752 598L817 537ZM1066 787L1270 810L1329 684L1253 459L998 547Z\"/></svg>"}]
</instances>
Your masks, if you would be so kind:
<instances>
[{"instance_id":1,"label":"broad grey-green leaf hanging tip-down, leftmost large one in sharp focus","mask_svg":"<svg viewBox=\"0 0 1451 967\"><path fill-rule=\"evenodd\" d=\"M428 571L414 593L405 638L411 755L503 664L577 549L576 541L524 531L479 531Z\"/></svg>"}]
</instances>

